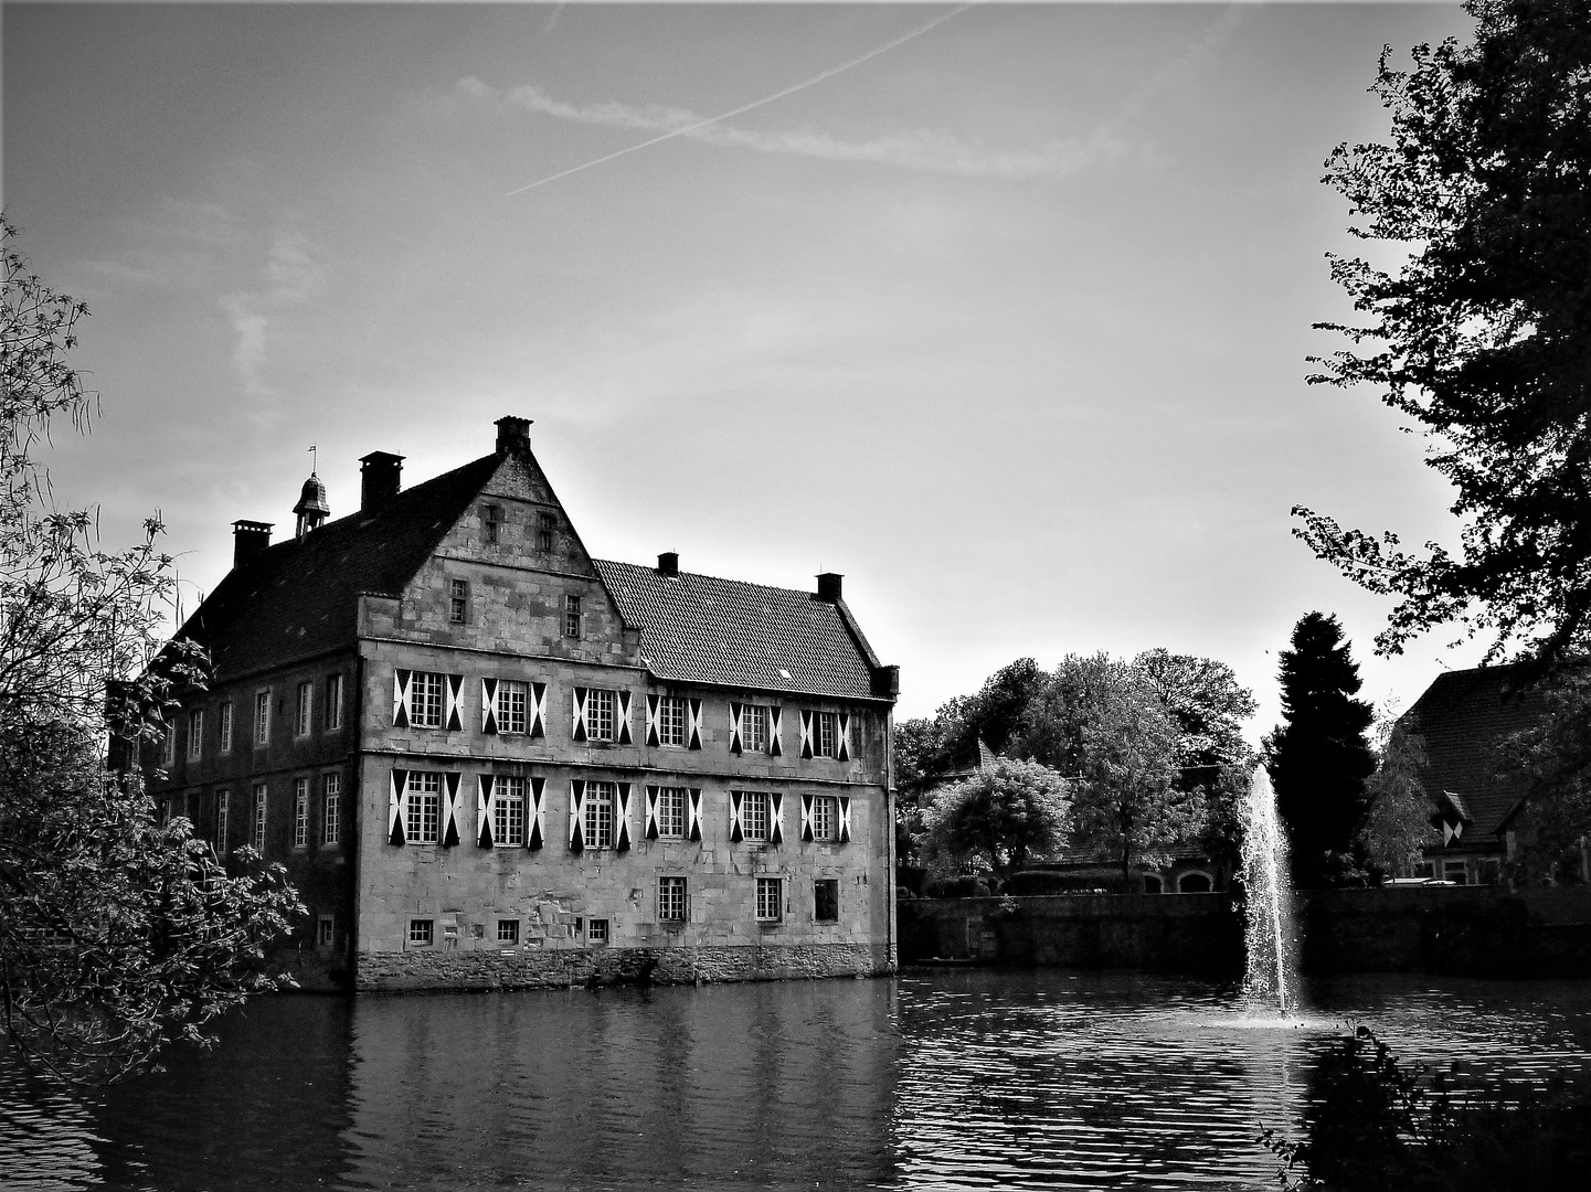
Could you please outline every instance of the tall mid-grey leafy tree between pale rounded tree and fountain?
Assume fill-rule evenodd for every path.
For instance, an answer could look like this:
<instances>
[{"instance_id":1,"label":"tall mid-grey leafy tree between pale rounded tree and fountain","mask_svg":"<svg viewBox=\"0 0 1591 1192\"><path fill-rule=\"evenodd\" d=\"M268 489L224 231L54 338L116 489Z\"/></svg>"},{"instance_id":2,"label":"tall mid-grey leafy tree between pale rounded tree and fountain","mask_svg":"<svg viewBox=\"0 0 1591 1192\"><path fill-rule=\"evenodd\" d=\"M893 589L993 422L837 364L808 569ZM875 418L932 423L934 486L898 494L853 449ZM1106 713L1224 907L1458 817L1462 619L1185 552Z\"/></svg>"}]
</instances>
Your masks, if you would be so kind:
<instances>
[{"instance_id":1,"label":"tall mid-grey leafy tree between pale rounded tree and fountain","mask_svg":"<svg viewBox=\"0 0 1591 1192\"><path fill-rule=\"evenodd\" d=\"M1200 832L1203 791L1177 786L1177 729L1142 672L1103 656L1071 668L1082 672L1074 839L1120 863L1125 891L1134 861L1168 864Z\"/></svg>"}]
</instances>

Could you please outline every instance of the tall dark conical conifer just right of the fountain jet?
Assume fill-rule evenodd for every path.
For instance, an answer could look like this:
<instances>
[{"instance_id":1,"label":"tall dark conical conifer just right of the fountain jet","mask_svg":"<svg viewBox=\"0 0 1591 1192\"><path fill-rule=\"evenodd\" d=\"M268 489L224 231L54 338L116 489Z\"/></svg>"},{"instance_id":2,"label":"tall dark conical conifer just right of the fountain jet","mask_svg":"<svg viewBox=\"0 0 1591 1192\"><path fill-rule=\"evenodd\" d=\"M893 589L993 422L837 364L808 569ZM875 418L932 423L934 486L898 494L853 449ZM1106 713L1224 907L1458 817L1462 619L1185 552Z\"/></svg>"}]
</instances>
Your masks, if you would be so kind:
<instances>
[{"instance_id":1,"label":"tall dark conical conifer just right of the fountain jet","mask_svg":"<svg viewBox=\"0 0 1591 1192\"><path fill-rule=\"evenodd\" d=\"M1351 869L1354 832L1365 813L1375 754L1365 730L1375 711L1359 692L1336 617L1308 613L1281 652L1282 719L1266 738L1276 812L1292 845L1293 882L1319 886Z\"/></svg>"}]
</instances>

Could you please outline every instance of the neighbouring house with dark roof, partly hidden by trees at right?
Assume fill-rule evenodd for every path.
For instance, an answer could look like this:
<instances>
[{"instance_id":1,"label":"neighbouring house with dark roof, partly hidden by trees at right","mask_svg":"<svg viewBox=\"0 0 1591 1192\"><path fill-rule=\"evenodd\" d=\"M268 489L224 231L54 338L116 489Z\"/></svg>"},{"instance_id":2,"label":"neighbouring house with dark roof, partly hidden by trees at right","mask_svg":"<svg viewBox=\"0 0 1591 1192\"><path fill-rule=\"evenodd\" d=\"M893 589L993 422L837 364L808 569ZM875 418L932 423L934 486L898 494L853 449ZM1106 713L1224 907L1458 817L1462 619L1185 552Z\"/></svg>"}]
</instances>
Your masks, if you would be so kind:
<instances>
[{"instance_id":1,"label":"neighbouring house with dark roof, partly hidden by trees at right","mask_svg":"<svg viewBox=\"0 0 1591 1192\"><path fill-rule=\"evenodd\" d=\"M1426 746L1421 783L1441 843L1402 877L1492 885L1529 831L1529 783L1503 764L1508 737L1548 715L1516 665L1449 670L1398 718ZM1581 861L1583 866L1583 861Z\"/></svg>"}]
</instances>

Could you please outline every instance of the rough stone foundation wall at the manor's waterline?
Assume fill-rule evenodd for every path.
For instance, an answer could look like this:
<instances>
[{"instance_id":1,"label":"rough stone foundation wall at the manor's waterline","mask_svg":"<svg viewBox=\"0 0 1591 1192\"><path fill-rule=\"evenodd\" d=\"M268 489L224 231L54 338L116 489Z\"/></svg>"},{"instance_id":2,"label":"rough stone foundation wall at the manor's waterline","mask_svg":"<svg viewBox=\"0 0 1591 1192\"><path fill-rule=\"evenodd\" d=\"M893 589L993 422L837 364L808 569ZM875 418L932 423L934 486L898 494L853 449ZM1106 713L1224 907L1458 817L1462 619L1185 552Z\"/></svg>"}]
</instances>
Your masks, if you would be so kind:
<instances>
[{"instance_id":1,"label":"rough stone foundation wall at the manor's waterline","mask_svg":"<svg viewBox=\"0 0 1591 1192\"><path fill-rule=\"evenodd\" d=\"M808 980L881 977L894 972L888 949L872 944L776 944L671 949L520 949L368 952L355 988L520 990L655 982Z\"/></svg>"}]
</instances>

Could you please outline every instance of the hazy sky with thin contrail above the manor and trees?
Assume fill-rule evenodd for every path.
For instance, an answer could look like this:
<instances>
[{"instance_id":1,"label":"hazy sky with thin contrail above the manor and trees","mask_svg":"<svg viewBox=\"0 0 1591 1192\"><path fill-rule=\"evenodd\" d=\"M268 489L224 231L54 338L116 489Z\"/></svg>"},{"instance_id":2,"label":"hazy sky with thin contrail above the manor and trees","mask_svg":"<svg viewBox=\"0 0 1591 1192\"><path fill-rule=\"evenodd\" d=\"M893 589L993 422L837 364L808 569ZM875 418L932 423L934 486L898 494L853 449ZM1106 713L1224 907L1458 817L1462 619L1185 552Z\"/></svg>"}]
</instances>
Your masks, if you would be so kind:
<instances>
[{"instance_id":1,"label":"hazy sky with thin contrail above the manor and trees","mask_svg":"<svg viewBox=\"0 0 1591 1192\"><path fill-rule=\"evenodd\" d=\"M1321 185L1386 138L1383 45L1456 5L27 5L3 22L3 202L84 299L92 434L57 498L159 511L188 611L231 524L333 516L535 420L587 547L845 595L897 716L998 667L1165 646L1279 718L1335 613L1406 708L1456 632L1295 504L1454 544L1373 391L1311 387L1352 320ZM1387 258L1392 259L1392 258ZM313 457L310 447L315 447Z\"/></svg>"}]
</instances>

